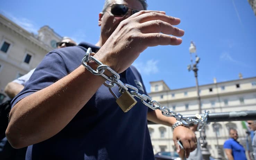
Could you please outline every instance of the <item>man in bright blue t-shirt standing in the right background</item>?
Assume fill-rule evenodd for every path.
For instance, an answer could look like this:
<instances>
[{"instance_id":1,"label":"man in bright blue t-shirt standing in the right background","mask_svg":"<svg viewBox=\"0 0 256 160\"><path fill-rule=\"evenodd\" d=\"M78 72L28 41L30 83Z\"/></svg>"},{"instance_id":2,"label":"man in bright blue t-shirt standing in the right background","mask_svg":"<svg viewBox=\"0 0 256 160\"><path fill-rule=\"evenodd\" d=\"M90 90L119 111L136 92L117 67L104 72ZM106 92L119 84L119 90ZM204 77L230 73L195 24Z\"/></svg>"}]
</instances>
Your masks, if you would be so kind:
<instances>
[{"instance_id":1,"label":"man in bright blue t-shirt standing in the right background","mask_svg":"<svg viewBox=\"0 0 256 160\"><path fill-rule=\"evenodd\" d=\"M230 139L225 141L223 145L228 160L247 160L244 147L237 141L237 130L230 128L229 136Z\"/></svg>"}]
</instances>

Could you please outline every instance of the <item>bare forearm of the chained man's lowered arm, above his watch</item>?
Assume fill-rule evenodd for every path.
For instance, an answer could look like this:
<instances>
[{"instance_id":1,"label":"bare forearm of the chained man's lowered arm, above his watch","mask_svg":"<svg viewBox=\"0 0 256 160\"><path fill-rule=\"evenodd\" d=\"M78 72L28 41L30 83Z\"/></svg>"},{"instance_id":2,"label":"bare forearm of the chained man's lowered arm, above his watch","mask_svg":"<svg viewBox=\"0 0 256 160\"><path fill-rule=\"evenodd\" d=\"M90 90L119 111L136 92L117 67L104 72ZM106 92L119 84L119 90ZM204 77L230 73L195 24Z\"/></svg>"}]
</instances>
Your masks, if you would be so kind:
<instances>
[{"instance_id":1,"label":"bare forearm of the chained man's lowered arm, above his watch","mask_svg":"<svg viewBox=\"0 0 256 160\"><path fill-rule=\"evenodd\" d=\"M147 113L147 119L156 124L163 124L167 126L172 126L176 122L174 117L166 117L162 114L161 110L154 110Z\"/></svg>"}]
</instances>

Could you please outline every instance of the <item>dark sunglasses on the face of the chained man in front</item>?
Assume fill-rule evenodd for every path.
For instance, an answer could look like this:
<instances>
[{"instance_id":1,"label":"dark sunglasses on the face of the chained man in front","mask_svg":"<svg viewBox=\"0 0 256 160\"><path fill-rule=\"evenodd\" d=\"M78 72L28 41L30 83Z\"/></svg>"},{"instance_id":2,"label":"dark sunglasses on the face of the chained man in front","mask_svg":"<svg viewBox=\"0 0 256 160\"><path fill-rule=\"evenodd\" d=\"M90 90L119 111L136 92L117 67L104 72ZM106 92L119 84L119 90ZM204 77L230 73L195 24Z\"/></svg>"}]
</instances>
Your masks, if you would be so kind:
<instances>
[{"instance_id":1,"label":"dark sunglasses on the face of the chained man in front","mask_svg":"<svg viewBox=\"0 0 256 160\"><path fill-rule=\"evenodd\" d=\"M113 4L111 7L111 13L116 17L123 17L127 14L128 10L131 9L131 14L137 13L139 10L129 8L126 5Z\"/></svg>"}]
</instances>

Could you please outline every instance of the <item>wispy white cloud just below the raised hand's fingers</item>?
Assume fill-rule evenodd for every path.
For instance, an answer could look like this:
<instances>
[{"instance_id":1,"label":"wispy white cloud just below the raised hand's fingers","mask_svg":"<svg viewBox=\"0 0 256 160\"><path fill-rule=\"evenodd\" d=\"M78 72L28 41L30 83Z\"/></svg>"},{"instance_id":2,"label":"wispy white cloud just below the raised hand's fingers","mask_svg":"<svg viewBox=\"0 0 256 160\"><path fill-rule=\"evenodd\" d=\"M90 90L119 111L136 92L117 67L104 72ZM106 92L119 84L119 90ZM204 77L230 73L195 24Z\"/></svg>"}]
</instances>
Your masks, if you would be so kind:
<instances>
[{"instance_id":1,"label":"wispy white cloud just below the raised hand's fingers","mask_svg":"<svg viewBox=\"0 0 256 160\"><path fill-rule=\"evenodd\" d=\"M133 65L141 74L150 75L159 71L157 66L158 60L148 60L146 63L134 62Z\"/></svg>"}]
</instances>

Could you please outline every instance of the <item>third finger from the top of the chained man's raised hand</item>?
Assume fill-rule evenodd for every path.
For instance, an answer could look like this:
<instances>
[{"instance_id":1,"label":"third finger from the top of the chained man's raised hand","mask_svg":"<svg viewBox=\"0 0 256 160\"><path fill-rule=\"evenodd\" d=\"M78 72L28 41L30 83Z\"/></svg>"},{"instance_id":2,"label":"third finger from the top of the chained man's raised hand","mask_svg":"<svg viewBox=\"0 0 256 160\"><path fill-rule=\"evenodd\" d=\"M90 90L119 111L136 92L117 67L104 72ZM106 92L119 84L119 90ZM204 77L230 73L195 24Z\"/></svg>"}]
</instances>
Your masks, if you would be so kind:
<instances>
[{"instance_id":1,"label":"third finger from the top of the chained man's raised hand","mask_svg":"<svg viewBox=\"0 0 256 160\"><path fill-rule=\"evenodd\" d=\"M184 30L173 27L171 24L162 20L151 20L139 25L142 33L164 33L181 37L184 35Z\"/></svg>"}]
</instances>

